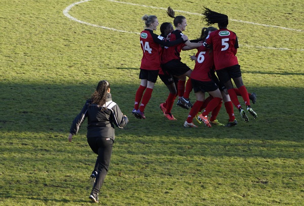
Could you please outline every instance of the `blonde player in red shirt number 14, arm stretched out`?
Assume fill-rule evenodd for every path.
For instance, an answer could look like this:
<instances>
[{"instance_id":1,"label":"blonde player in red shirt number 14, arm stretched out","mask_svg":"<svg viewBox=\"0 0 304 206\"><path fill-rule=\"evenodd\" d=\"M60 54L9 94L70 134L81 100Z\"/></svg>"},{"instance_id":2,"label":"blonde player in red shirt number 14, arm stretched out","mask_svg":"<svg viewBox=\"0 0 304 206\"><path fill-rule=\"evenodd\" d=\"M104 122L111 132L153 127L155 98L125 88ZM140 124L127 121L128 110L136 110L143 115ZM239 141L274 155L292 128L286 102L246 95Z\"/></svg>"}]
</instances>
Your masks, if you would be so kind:
<instances>
[{"instance_id":1,"label":"blonde player in red shirt number 14, arm stretched out","mask_svg":"<svg viewBox=\"0 0 304 206\"><path fill-rule=\"evenodd\" d=\"M141 85L136 92L134 109L132 110L132 114L138 119L146 119L144 110L151 98L154 84L160 70L160 45L171 47L183 44L184 41L188 40L187 36L183 36L176 39L176 41L167 41L166 38L153 33L158 26L158 19L154 15L144 15L142 20L145 21L146 29L143 30L140 35L140 43L143 50L139 75Z\"/></svg>"}]
</instances>

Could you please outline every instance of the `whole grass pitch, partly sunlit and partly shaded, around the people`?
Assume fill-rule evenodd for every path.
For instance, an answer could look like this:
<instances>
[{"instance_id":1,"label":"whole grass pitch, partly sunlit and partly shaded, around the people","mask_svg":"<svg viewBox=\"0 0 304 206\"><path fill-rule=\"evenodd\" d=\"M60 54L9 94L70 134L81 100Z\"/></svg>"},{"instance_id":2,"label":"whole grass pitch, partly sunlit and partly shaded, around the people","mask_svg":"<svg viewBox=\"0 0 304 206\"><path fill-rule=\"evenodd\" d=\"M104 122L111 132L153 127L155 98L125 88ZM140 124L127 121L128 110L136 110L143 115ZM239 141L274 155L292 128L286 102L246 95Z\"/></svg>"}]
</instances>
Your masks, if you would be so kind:
<instances>
[{"instance_id":1,"label":"whole grass pitch, partly sunlit and partly shaded, around the people","mask_svg":"<svg viewBox=\"0 0 304 206\"><path fill-rule=\"evenodd\" d=\"M130 122L116 129L99 204L303 205L302 1L76 3L1 3L0 205L91 205L96 155L86 142L86 122L73 143L67 135L103 79ZM172 22L168 6L187 18L190 39L205 26L203 6L229 16L245 86L258 94L257 119L245 123L235 110L236 127L186 129L189 111L174 107L174 122L162 116L158 106L168 90L160 80L147 119L131 116L140 84L141 17ZM191 68L193 52L181 54ZM226 123L224 107L218 119Z\"/></svg>"}]
</instances>

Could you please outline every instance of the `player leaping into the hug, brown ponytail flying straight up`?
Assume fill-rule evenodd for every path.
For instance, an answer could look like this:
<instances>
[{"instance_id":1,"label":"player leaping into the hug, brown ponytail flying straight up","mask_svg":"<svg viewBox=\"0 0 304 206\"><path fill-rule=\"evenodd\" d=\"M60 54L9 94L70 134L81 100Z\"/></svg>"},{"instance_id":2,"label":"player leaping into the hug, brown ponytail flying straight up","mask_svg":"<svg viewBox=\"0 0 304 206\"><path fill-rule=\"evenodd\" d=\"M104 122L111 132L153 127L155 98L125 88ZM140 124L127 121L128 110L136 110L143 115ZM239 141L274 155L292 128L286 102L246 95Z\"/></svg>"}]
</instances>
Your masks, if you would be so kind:
<instances>
[{"instance_id":1,"label":"player leaping into the hug, brown ponytail flying straight up","mask_svg":"<svg viewBox=\"0 0 304 206\"><path fill-rule=\"evenodd\" d=\"M173 24L175 26L175 30L171 32L171 41L174 41L176 39L181 38L184 34L182 33L184 30L186 30L187 26L187 20L184 16L175 16L175 12L171 7L168 7L167 9L168 16L174 18ZM190 41L187 41L185 43L178 44L174 47L165 48L162 55L161 60L161 68L164 72L167 72L169 74L172 74L173 76L179 78L178 82L178 95L179 100L177 102L177 105L184 108L189 109L188 104L189 99L185 99L188 101L188 104L183 104L180 101L180 98L184 96L184 93L190 93L192 90L191 80L188 79L186 84L186 91L185 91L185 82L187 77L190 78L192 70L183 62L181 62L180 52L184 46L188 46L190 48L197 48L201 46L201 43L191 43ZM192 106L192 104L189 104Z\"/></svg>"}]
</instances>

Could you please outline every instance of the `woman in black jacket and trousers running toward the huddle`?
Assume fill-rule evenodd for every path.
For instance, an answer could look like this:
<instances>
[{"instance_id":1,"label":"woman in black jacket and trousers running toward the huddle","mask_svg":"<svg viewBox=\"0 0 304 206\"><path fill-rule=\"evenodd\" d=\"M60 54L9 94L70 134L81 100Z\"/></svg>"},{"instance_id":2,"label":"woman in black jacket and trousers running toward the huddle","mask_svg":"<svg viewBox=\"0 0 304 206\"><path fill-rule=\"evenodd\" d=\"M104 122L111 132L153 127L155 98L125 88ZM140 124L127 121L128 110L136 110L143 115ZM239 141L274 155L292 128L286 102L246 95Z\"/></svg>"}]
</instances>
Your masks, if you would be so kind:
<instances>
[{"instance_id":1,"label":"woman in black jacket and trousers running toward the huddle","mask_svg":"<svg viewBox=\"0 0 304 206\"><path fill-rule=\"evenodd\" d=\"M69 142L72 142L73 135L78 133L87 117L87 141L92 151L98 154L91 175L96 178L89 196L92 202L98 202L98 193L108 173L115 136L114 125L123 128L128 123L127 116L123 115L118 105L112 101L110 90L108 81L98 82L95 92L74 119L68 138Z\"/></svg>"}]
</instances>

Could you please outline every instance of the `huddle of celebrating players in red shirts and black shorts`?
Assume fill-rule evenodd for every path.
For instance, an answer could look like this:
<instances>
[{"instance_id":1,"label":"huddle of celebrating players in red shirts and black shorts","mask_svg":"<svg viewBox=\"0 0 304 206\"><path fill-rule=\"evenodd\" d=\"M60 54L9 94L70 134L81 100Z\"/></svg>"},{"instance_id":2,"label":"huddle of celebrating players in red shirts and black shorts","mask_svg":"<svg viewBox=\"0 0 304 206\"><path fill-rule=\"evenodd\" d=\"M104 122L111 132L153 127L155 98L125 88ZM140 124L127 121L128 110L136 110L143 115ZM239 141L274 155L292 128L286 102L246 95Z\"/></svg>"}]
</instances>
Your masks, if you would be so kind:
<instances>
[{"instance_id":1,"label":"huddle of celebrating players in red shirts and black shorts","mask_svg":"<svg viewBox=\"0 0 304 206\"><path fill-rule=\"evenodd\" d=\"M227 29L228 16L205 8L203 20L209 27L202 28L200 37L190 41L182 33L187 26L186 18L175 16L170 7L167 14L174 18L175 29L171 23L164 22L160 26L159 36L153 33L159 24L157 17L144 15L142 18L146 29L140 34L143 50L139 75L141 85L136 92L132 114L136 118L146 119L144 110L159 77L170 91L165 102L159 106L167 119L176 120L171 110L177 96L177 106L191 108L184 127L197 127L193 123L194 117L198 123L203 122L208 127L237 125L233 105L239 110L245 122L249 121L246 111L254 119L257 118L256 112L250 106L250 100L255 104L256 94L248 93L243 84L241 68L235 56L239 48L238 38L233 31ZM219 29L210 26L216 23ZM193 71L180 57L182 50L191 49L197 49L195 55L189 55L191 60L195 60ZM233 88L231 79L237 88ZM193 105L189 100L192 90L196 97ZM206 92L209 93L208 98L205 98ZM244 99L246 109L242 108L238 95ZM222 101L229 116L226 125L217 120Z\"/></svg>"}]
</instances>

